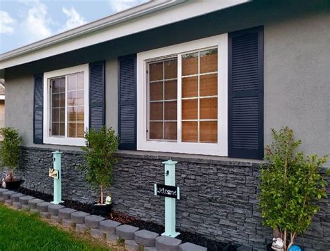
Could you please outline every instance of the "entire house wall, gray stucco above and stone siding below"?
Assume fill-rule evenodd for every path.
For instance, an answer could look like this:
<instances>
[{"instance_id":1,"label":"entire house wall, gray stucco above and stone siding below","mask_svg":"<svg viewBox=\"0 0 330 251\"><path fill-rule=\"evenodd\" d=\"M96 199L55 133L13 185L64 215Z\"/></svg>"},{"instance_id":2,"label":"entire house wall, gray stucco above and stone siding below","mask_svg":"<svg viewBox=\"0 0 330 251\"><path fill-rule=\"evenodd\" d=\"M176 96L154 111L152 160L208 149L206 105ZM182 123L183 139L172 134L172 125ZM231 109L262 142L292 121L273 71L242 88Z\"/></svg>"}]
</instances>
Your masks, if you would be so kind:
<instances>
[{"instance_id":1,"label":"entire house wall, gray stucco above and stone siding below","mask_svg":"<svg viewBox=\"0 0 330 251\"><path fill-rule=\"evenodd\" d=\"M264 26L265 40L265 145L272 140L270 128L288 125L301 138L305 152L329 154L329 10L311 8L308 12L308 6L297 8L288 4L288 8L282 6L286 13L281 13L280 7L272 6L274 1L269 2L264 8L257 8L257 1L248 7L238 6L219 15L214 13L85 51L46 58L18 71L6 71L6 126L16 127L23 137L24 169L19 175L26 179L24 186L52 193L47 166L52 164L51 152L61 149L64 199L93 202L97 196L86 186L84 174L77 170L82 162L79 147L33 144L33 74L105 59L106 124L117 129L118 56L259 25ZM233 22L228 23L230 18ZM191 33L189 26L196 31ZM114 169L111 191L116 210L162 224L163 200L153 195L152 184L162 181L162 161L171 157L179 161L176 175L182 191L177 208L180 229L265 250L271 232L261 226L257 207L258 161L187 154L166 156L157 152L121 151L120 156L122 161ZM330 195L329 188L327 192ZM308 250L329 250L329 215L329 199L322 200L311 230L298 243Z\"/></svg>"}]
</instances>

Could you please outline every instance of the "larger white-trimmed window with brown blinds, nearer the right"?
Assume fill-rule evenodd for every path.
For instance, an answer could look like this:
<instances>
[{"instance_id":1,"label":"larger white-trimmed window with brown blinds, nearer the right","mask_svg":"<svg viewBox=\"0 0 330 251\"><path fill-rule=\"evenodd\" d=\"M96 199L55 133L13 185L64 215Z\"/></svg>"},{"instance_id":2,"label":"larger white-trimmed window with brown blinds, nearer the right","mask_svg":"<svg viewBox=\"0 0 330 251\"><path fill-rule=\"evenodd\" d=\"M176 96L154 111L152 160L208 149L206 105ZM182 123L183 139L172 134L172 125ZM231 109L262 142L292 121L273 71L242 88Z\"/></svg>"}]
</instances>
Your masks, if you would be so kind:
<instances>
[{"instance_id":1,"label":"larger white-trimmed window with brown blinds, nearer the right","mask_svg":"<svg viewBox=\"0 0 330 251\"><path fill-rule=\"evenodd\" d=\"M138 54L138 149L227 155L226 39Z\"/></svg>"}]
</instances>

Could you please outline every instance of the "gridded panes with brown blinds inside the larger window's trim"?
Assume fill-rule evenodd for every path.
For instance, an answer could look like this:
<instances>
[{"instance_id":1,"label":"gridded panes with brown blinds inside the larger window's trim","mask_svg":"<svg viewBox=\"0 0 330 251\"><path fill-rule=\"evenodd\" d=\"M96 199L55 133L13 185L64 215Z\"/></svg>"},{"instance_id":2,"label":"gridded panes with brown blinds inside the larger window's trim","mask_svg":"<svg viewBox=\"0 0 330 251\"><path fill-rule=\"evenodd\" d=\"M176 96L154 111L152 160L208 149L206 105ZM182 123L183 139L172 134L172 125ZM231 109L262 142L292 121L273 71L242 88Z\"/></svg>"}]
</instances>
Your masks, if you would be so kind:
<instances>
[{"instance_id":1,"label":"gridded panes with brown blinds inside the larger window's trim","mask_svg":"<svg viewBox=\"0 0 330 251\"><path fill-rule=\"evenodd\" d=\"M182 142L217 143L217 60L217 49L207 49L148 64L149 140L176 141L181 123ZM182 87L180 97L178 79ZM178 101L181 121L177 118Z\"/></svg>"}]
</instances>

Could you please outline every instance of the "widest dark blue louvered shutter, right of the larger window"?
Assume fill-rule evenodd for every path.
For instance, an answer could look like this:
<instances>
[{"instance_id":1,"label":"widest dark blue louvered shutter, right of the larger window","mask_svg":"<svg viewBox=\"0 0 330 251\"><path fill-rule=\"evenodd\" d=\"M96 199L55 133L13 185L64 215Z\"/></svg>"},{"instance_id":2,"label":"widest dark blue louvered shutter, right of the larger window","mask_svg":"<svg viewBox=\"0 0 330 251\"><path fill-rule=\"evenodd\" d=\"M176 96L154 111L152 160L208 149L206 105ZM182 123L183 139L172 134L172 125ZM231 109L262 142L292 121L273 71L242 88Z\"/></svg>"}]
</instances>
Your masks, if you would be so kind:
<instances>
[{"instance_id":1,"label":"widest dark blue louvered shutter, right of the larger window","mask_svg":"<svg viewBox=\"0 0 330 251\"><path fill-rule=\"evenodd\" d=\"M263 158L263 27L228 34L228 156Z\"/></svg>"}]
</instances>

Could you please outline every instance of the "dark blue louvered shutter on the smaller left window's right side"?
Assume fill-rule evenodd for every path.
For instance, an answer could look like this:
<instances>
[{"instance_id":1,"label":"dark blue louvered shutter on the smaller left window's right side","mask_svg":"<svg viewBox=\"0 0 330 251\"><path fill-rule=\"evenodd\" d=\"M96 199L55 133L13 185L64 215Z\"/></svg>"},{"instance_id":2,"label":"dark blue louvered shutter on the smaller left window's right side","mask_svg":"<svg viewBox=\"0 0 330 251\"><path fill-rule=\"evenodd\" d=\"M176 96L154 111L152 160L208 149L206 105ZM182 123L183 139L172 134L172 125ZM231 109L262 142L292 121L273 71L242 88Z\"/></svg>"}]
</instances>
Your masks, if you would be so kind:
<instances>
[{"instance_id":1,"label":"dark blue louvered shutter on the smaller left window's right side","mask_svg":"<svg viewBox=\"0 0 330 251\"><path fill-rule=\"evenodd\" d=\"M105 124L105 63L89 64L89 128L99 130Z\"/></svg>"}]
</instances>

